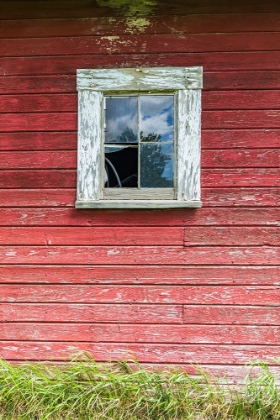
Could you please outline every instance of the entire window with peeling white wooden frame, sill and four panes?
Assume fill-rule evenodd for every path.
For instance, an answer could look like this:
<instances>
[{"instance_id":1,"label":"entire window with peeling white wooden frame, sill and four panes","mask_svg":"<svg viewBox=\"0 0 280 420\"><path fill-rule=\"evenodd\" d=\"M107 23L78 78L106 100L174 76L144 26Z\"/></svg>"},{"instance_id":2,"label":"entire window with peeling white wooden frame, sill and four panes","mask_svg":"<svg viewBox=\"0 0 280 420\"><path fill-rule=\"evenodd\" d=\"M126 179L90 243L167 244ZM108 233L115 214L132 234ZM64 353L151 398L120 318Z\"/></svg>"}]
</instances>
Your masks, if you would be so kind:
<instances>
[{"instance_id":1,"label":"entire window with peeling white wooden frame, sill and four panes","mask_svg":"<svg viewBox=\"0 0 280 420\"><path fill-rule=\"evenodd\" d=\"M201 207L201 67L77 71L77 208Z\"/></svg>"}]
</instances>

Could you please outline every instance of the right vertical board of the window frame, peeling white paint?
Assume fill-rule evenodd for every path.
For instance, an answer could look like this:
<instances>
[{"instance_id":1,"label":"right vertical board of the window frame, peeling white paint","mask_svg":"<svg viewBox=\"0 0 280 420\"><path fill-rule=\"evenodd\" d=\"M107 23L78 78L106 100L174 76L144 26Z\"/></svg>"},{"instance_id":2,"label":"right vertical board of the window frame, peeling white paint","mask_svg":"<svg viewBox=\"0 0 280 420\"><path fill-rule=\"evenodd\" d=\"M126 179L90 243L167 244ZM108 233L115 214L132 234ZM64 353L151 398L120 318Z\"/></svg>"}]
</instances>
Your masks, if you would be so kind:
<instances>
[{"instance_id":1,"label":"right vertical board of the window frame, peeling white paint","mask_svg":"<svg viewBox=\"0 0 280 420\"><path fill-rule=\"evenodd\" d=\"M200 200L201 91L178 92L178 200Z\"/></svg>"}]
</instances>

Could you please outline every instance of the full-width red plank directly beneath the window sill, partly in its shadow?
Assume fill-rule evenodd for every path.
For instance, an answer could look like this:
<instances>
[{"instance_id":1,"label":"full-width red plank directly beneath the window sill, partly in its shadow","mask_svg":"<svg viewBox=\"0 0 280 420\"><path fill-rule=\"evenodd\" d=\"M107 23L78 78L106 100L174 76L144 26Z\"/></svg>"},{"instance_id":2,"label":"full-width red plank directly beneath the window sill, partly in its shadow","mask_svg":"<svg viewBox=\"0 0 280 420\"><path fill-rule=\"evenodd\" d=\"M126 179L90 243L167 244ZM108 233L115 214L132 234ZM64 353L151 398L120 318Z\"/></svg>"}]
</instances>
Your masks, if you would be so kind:
<instances>
[{"instance_id":1,"label":"full-width red plank directly beneath the window sill, partly in its shadow","mask_svg":"<svg viewBox=\"0 0 280 420\"><path fill-rule=\"evenodd\" d=\"M0 208L0 226L279 226L279 208L127 211Z\"/></svg>"}]
</instances>

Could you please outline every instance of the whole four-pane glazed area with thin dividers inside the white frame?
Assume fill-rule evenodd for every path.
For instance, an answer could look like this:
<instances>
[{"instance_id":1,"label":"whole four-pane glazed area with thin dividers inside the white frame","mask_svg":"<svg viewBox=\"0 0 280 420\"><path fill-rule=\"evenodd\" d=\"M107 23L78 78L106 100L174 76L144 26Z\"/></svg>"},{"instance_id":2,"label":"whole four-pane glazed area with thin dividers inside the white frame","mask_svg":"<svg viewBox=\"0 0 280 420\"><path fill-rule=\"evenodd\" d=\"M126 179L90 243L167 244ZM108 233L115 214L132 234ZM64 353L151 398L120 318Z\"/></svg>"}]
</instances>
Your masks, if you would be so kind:
<instances>
[{"instance_id":1,"label":"whole four-pane glazed area with thin dividers inside the white frame","mask_svg":"<svg viewBox=\"0 0 280 420\"><path fill-rule=\"evenodd\" d=\"M173 188L174 95L104 99L105 188Z\"/></svg>"}]
</instances>

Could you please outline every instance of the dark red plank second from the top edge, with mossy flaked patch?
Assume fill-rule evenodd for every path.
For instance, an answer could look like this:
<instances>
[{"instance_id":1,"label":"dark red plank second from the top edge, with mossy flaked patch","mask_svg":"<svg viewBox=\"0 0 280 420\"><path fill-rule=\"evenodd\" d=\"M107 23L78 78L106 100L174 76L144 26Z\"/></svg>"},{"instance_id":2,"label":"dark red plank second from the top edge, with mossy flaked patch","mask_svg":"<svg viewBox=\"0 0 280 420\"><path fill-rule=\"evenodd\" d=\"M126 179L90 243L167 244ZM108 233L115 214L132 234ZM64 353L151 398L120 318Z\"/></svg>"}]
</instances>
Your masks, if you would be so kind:
<instances>
[{"instance_id":1,"label":"dark red plank second from the top edge, with mossy flaked patch","mask_svg":"<svg viewBox=\"0 0 280 420\"><path fill-rule=\"evenodd\" d=\"M125 35L132 33L211 33L211 32L277 32L277 13L223 15L150 16L146 22L116 17L88 19L2 20L1 38L41 38L61 36Z\"/></svg>"}]
</instances>

